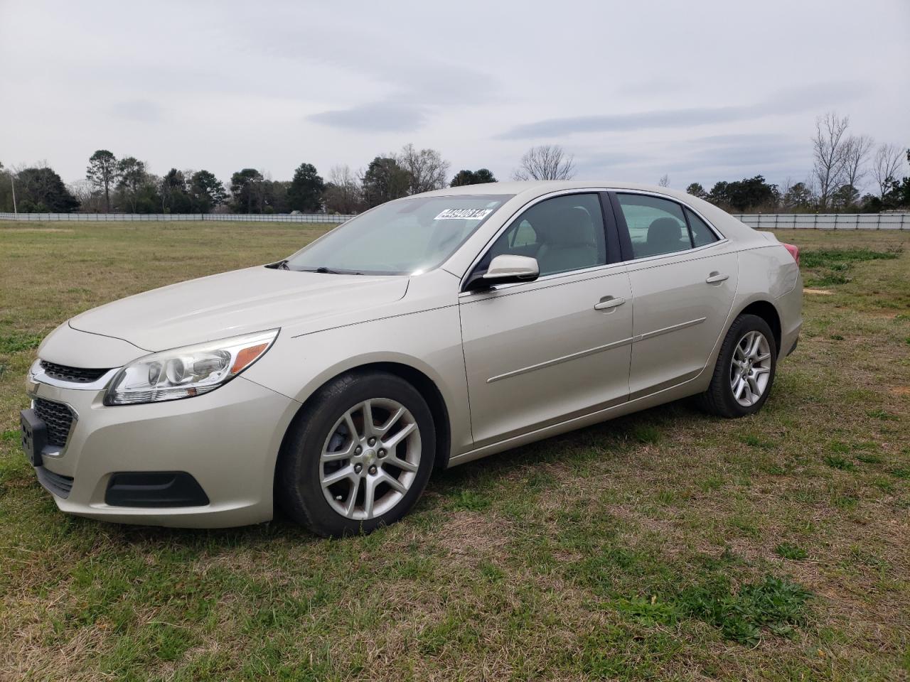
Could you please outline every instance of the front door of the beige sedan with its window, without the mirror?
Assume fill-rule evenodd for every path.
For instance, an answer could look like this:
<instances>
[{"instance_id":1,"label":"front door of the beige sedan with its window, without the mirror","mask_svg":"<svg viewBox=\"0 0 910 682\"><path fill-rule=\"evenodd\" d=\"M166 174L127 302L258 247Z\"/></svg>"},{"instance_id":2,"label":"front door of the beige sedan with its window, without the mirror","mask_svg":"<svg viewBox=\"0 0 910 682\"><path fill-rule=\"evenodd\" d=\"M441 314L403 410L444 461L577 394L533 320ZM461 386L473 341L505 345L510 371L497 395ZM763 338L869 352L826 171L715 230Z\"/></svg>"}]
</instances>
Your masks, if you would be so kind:
<instances>
[{"instance_id":1,"label":"front door of the beige sedan with its window, without the mirror","mask_svg":"<svg viewBox=\"0 0 910 682\"><path fill-rule=\"evenodd\" d=\"M480 260L486 269L501 254L532 256L541 276L460 296L476 446L627 399L632 290L606 245L600 196L556 196L514 219Z\"/></svg>"}]
</instances>

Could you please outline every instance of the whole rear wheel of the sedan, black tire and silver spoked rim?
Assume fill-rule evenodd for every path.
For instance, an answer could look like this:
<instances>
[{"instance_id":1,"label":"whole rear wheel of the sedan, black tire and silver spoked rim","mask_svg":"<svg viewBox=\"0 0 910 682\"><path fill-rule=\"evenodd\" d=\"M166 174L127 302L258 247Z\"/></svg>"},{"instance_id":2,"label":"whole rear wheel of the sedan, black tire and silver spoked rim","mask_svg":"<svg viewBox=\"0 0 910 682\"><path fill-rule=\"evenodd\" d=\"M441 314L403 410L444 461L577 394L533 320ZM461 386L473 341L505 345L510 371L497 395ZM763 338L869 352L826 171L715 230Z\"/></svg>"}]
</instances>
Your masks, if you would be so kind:
<instances>
[{"instance_id":1,"label":"whole rear wheel of the sedan, black tire and silver spoked rim","mask_svg":"<svg viewBox=\"0 0 910 682\"><path fill-rule=\"evenodd\" d=\"M776 370L777 345L771 327L759 316L738 316L723 338L711 384L698 396L699 406L726 418L753 415L768 399Z\"/></svg>"}]
</instances>

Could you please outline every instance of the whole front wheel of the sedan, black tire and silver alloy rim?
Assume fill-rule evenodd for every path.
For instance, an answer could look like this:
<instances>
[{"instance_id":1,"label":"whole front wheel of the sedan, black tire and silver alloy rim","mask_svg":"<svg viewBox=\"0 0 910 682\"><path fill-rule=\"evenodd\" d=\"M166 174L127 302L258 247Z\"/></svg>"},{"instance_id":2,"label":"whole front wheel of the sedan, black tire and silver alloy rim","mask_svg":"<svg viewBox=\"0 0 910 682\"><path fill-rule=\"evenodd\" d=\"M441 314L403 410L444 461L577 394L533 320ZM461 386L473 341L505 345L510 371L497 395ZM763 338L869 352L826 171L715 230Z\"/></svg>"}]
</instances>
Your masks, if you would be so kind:
<instances>
[{"instance_id":1,"label":"whole front wheel of the sedan, black tire and silver alloy rim","mask_svg":"<svg viewBox=\"0 0 910 682\"><path fill-rule=\"evenodd\" d=\"M276 469L278 505L320 536L369 533L410 511L435 455L430 407L414 386L387 372L342 375L288 428Z\"/></svg>"}]
</instances>

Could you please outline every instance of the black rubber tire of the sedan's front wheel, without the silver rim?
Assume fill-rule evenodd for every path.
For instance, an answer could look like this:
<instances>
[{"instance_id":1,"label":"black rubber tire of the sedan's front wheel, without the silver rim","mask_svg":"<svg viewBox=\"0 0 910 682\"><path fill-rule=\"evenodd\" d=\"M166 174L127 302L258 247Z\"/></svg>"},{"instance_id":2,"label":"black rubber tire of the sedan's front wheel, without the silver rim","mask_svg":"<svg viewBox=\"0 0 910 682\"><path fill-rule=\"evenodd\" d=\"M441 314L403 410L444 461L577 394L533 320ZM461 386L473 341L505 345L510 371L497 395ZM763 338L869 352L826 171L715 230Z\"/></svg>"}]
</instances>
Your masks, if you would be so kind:
<instances>
[{"instance_id":1,"label":"black rubber tire of the sedan's front wheel, without the silver rim","mask_svg":"<svg viewBox=\"0 0 910 682\"><path fill-rule=\"evenodd\" d=\"M420 429L420 465L408 492L396 506L379 517L360 521L342 517L329 505L320 484L320 455L329 429L339 417L369 398L390 398L414 416ZM436 456L430 407L420 392L399 376L382 372L340 376L320 389L292 429L294 434L286 439L279 457L279 501L289 516L320 535L368 533L398 521L414 506L430 479Z\"/></svg>"}]
</instances>

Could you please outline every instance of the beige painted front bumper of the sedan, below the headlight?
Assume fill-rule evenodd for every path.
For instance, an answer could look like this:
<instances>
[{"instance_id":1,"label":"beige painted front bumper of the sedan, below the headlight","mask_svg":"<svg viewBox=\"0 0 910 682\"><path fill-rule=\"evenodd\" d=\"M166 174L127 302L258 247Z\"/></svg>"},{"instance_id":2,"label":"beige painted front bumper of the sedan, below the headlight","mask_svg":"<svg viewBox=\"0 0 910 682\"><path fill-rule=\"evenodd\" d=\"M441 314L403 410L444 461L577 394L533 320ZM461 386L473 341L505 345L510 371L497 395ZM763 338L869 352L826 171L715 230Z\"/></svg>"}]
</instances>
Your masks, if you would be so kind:
<instances>
[{"instance_id":1,"label":"beige painted front bumper of the sedan, below the headlight","mask_svg":"<svg viewBox=\"0 0 910 682\"><path fill-rule=\"evenodd\" d=\"M146 405L105 406L103 390L40 381L30 382L28 393L75 415L66 445L45 453L36 469L62 511L170 527L244 526L272 517L275 461L296 401L243 376L202 396ZM107 504L112 476L162 471L195 478L208 504ZM66 496L61 480L71 485Z\"/></svg>"}]
</instances>

